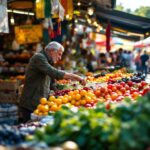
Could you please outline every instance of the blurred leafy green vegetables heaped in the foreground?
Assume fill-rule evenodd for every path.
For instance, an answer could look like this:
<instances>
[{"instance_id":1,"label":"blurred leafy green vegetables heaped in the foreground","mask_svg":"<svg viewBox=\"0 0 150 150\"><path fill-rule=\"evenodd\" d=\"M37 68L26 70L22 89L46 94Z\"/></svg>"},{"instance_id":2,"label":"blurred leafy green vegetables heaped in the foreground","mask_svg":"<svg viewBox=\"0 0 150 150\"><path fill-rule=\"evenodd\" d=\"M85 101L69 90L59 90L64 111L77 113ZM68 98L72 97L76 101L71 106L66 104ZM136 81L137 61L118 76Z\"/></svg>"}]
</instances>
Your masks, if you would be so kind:
<instances>
[{"instance_id":1,"label":"blurred leafy green vegetables heaped in the foreground","mask_svg":"<svg viewBox=\"0 0 150 150\"><path fill-rule=\"evenodd\" d=\"M150 93L136 102L127 98L111 103L106 109L98 103L95 109L63 107L53 113L54 121L32 137L49 146L72 140L86 150L147 150L150 146Z\"/></svg>"}]
</instances>

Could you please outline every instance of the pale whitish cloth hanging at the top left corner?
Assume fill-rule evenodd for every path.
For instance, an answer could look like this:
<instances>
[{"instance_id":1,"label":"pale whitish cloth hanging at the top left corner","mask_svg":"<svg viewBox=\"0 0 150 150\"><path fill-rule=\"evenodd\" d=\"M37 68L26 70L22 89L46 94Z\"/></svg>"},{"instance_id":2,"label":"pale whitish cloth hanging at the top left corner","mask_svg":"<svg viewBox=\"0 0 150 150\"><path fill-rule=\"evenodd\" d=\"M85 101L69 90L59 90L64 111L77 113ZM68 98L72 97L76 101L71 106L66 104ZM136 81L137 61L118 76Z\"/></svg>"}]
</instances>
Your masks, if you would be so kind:
<instances>
[{"instance_id":1,"label":"pale whitish cloth hanging at the top left corner","mask_svg":"<svg viewBox=\"0 0 150 150\"><path fill-rule=\"evenodd\" d=\"M0 33L9 33L7 0L0 0Z\"/></svg>"}]
</instances>

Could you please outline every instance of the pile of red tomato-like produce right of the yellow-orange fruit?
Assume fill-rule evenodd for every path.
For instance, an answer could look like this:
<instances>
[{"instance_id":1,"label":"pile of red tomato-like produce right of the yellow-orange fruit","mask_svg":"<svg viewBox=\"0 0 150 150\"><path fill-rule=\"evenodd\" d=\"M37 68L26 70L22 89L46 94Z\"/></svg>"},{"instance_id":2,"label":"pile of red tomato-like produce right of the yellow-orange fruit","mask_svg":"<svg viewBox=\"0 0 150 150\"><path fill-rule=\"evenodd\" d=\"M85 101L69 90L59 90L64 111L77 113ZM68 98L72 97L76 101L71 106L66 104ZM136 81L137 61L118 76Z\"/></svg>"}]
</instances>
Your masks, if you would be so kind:
<instances>
[{"instance_id":1,"label":"pile of red tomato-like produce right of the yellow-orange fruit","mask_svg":"<svg viewBox=\"0 0 150 150\"><path fill-rule=\"evenodd\" d=\"M100 101L122 101L125 97L132 100L137 99L138 96L145 95L150 91L149 85L145 81L135 83L132 81L108 84L107 87L100 87L94 91L95 95Z\"/></svg>"}]
</instances>

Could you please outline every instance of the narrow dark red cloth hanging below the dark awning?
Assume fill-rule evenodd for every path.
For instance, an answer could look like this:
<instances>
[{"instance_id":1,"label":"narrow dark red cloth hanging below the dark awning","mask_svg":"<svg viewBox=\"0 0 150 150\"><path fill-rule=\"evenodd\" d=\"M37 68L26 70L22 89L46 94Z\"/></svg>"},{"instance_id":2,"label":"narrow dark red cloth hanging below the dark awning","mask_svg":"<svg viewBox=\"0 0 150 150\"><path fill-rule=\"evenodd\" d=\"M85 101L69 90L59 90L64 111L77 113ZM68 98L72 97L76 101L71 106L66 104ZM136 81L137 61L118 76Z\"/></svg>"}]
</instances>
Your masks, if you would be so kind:
<instances>
[{"instance_id":1,"label":"narrow dark red cloth hanging below the dark awning","mask_svg":"<svg viewBox=\"0 0 150 150\"><path fill-rule=\"evenodd\" d=\"M107 27L106 27L106 50L107 52L110 51L110 36L111 36L111 24L108 22Z\"/></svg>"}]
</instances>

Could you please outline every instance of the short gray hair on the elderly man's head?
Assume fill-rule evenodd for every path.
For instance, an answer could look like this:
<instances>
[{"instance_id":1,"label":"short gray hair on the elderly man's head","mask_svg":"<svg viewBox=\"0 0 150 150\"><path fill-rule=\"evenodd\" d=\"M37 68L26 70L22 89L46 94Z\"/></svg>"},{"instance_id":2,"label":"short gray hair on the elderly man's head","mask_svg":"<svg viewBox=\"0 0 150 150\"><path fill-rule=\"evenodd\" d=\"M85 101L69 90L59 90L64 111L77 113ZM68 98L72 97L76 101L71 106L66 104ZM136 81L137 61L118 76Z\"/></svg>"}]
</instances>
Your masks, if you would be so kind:
<instances>
[{"instance_id":1,"label":"short gray hair on the elderly man's head","mask_svg":"<svg viewBox=\"0 0 150 150\"><path fill-rule=\"evenodd\" d=\"M46 45L45 50L54 49L54 50L58 51L60 48L64 52L64 47L60 43L53 41Z\"/></svg>"}]
</instances>

